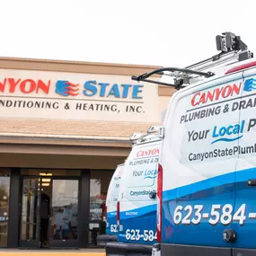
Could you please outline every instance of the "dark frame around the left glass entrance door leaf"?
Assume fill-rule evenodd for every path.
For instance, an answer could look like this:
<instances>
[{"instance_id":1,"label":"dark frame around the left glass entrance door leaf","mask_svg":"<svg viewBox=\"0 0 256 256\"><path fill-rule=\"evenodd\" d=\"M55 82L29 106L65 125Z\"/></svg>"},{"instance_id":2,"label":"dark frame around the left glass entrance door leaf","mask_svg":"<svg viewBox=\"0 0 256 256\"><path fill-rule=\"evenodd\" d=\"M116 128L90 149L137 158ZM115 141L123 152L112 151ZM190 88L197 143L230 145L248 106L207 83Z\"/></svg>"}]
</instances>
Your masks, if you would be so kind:
<instances>
[{"instance_id":1,"label":"dark frame around the left glass entrance door leaf","mask_svg":"<svg viewBox=\"0 0 256 256\"><path fill-rule=\"evenodd\" d=\"M39 192L38 192L38 201L37 201L37 223L36 223L36 239L32 241L22 240L22 195L23 195L23 181L25 179L38 179L39 180ZM25 175L21 177L21 189L20 189L20 207L19 207L19 247L22 248L40 248L40 197L41 197L41 177L38 175Z\"/></svg>"}]
</instances>

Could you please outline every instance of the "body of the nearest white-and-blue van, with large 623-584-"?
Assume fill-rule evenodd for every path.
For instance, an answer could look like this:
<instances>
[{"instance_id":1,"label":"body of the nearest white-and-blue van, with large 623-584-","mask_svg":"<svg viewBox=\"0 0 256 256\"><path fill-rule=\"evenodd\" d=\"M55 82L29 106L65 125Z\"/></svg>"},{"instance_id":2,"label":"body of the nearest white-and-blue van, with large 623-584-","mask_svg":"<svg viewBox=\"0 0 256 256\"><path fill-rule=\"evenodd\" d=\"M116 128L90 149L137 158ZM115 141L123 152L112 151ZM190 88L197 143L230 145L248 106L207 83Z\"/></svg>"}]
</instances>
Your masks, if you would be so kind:
<instances>
[{"instance_id":1,"label":"body of the nearest white-and-blue van, with large 623-584-","mask_svg":"<svg viewBox=\"0 0 256 256\"><path fill-rule=\"evenodd\" d=\"M242 64L172 96L155 255L256 253L256 60Z\"/></svg>"}]
</instances>

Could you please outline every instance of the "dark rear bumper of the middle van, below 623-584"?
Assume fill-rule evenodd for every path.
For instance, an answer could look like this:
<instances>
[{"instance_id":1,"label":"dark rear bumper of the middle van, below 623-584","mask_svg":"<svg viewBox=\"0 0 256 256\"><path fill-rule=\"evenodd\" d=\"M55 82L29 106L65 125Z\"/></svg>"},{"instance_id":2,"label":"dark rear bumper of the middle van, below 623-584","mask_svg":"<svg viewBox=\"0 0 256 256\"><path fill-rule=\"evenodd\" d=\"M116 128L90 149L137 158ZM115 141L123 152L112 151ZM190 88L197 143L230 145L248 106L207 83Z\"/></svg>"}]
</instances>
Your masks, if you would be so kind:
<instances>
[{"instance_id":1,"label":"dark rear bumper of the middle van, below 623-584","mask_svg":"<svg viewBox=\"0 0 256 256\"><path fill-rule=\"evenodd\" d=\"M140 243L107 243L106 256L151 256L153 245Z\"/></svg>"}]
</instances>

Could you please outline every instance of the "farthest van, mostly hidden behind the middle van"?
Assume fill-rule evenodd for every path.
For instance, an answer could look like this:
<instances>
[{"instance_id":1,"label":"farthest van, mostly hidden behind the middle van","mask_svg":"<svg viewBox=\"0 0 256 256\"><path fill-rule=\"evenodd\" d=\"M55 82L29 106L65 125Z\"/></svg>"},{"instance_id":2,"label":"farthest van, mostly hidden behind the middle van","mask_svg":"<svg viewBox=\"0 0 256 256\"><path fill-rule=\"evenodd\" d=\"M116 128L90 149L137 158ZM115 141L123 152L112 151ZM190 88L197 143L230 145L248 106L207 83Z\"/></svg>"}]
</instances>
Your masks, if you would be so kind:
<instances>
[{"instance_id":1,"label":"farthest van, mostly hidden behind the middle van","mask_svg":"<svg viewBox=\"0 0 256 256\"><path fill-rule=\"evenodd\" d=\"M106 198L106 234L97 235L97 245L104 246L110 241L117 241L117 202L119 197L119 185L124 170L124 163L117 166L112 175Z\"/></svg>"}]
</instances>

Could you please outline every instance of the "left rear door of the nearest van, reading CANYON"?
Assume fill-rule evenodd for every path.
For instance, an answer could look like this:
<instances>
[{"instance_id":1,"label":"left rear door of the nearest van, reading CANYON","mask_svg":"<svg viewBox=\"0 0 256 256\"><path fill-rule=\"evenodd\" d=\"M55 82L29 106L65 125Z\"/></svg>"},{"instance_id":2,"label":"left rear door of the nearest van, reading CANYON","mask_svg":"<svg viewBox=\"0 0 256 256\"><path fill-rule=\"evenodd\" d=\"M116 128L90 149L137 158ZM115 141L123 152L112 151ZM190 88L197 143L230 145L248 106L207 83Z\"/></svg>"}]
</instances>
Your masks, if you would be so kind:
<instances>
[{"instance_id":1,"label":"left rear door of the nearest van, reading CANYON","mask_svg":"<svg viewBox=\"0 0 256 256\"><path fill-rule=\"evenodd\" d=\"M225 75L172 96L160 159L162 243L232 247L223 233L232 227L243 123L230 102L241 97L242 84L242 73Z\"/></svg>"}]
</instances>

